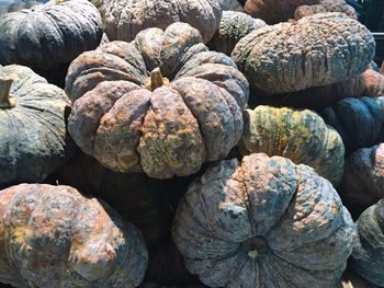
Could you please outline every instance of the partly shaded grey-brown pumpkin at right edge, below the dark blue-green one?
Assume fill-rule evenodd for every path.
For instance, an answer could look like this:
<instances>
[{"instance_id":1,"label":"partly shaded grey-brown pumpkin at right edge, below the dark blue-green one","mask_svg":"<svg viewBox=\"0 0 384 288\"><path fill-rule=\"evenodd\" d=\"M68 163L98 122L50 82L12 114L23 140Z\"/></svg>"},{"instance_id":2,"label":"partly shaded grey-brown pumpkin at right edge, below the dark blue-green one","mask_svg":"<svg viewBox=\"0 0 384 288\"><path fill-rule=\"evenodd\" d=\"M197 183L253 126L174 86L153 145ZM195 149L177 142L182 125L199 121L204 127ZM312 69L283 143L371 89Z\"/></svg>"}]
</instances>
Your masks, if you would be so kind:
<instances>
[{"instance_id":1,"label":"partly shaded grey-brown pumpkin at right edge, below the dark blue-green one","mask_svg":"<svg viewBox=\"0 0 384 288\"><path fill-rule=\"evenodd\" d=\"M384 198L384 143L361 148L346 161L339 193L347 204L366 209Z\"/></svg>"}]
</instances>

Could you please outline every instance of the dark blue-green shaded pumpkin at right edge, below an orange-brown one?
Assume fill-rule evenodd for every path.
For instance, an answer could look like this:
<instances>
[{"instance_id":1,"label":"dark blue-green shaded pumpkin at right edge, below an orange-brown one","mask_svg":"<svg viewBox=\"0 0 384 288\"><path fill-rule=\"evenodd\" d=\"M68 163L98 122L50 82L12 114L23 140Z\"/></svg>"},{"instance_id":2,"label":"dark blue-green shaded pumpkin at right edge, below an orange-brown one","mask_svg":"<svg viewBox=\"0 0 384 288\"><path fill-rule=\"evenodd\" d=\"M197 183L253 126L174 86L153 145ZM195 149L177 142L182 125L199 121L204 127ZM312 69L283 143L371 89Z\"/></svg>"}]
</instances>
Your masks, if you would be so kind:
<instances>
[{"instance_id":1,"label":"dark blue-green shaded pumpkin at right edge, below an orange-brown one","mask_svg":"<svg viewBox=\"0 0 384 288\"><path fill-rule=\"evenodd\" d=\"M347 154L383 139L384 97L347 97L320 112L341 136Z\"/></svg>"}]
</instances>

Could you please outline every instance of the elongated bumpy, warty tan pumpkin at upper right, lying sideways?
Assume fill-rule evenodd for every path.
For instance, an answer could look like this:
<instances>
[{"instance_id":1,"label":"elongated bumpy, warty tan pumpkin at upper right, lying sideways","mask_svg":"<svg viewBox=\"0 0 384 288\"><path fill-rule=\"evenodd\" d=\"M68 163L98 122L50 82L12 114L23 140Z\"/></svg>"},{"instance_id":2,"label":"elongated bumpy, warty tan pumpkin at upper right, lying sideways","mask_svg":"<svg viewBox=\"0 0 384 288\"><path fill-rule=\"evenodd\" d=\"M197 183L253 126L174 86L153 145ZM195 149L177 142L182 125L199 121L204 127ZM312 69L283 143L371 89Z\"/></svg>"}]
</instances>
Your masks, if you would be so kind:
<instances>
[{"instance_id":1,"label":"elongated bumpy, warty tan pumpkin at upper right, lying sideways","mask_svg":"<svg viewBox=\"0 0 384 288\"><path fill-rule=\"evenodd\" d=\"M357 77L374 53L364 25L343 13L319 13L252 31L231 58L256 91L270 95Z\"/></svg>"}]
</instances>

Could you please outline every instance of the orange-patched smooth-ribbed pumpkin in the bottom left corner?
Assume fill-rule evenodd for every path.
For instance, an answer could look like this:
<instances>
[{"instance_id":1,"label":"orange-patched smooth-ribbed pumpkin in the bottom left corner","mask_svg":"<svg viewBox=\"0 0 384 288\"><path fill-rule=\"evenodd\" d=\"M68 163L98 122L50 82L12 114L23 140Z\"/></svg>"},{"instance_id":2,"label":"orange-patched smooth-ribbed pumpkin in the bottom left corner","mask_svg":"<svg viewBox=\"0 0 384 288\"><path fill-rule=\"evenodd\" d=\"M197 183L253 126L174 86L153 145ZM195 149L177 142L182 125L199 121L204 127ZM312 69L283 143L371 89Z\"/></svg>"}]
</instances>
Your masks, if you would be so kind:
<instances>
[{"instance_id":1,"label":"orange-patched smooth-ribbed pumpkin in the bottom left corner","mask_svg":"<svg viewBox=\"0 0 384 288\"><path fill-rule=\"evenodd\" d=\"M0 192L0 281L14 287L136 287L147 250L106 204L70 186Z\"/></svg>"}]
</instances>

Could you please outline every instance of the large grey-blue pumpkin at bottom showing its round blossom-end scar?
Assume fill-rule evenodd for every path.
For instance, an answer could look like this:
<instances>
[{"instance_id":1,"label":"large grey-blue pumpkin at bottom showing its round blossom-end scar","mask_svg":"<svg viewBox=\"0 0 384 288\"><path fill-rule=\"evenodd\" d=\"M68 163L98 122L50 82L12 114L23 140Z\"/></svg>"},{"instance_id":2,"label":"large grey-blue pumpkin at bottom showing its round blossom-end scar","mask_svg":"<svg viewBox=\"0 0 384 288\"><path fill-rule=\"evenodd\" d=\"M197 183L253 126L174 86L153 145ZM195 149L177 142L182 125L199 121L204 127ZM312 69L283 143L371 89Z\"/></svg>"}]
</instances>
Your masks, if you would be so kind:
<instances>
[{"instance_id":1,"label":"large grey-blue pumpkin at bottom showing its round blossom-end scar","mask_svg":"<svg viewBox=\"0 0 384 288\"><path fill-rule=\"evenodd\" d=\"M210 287L331 287L355 228L331 184L263 153L223 160L181 200L172 228L185 266Z\"/></svg>"}]
</instances>

